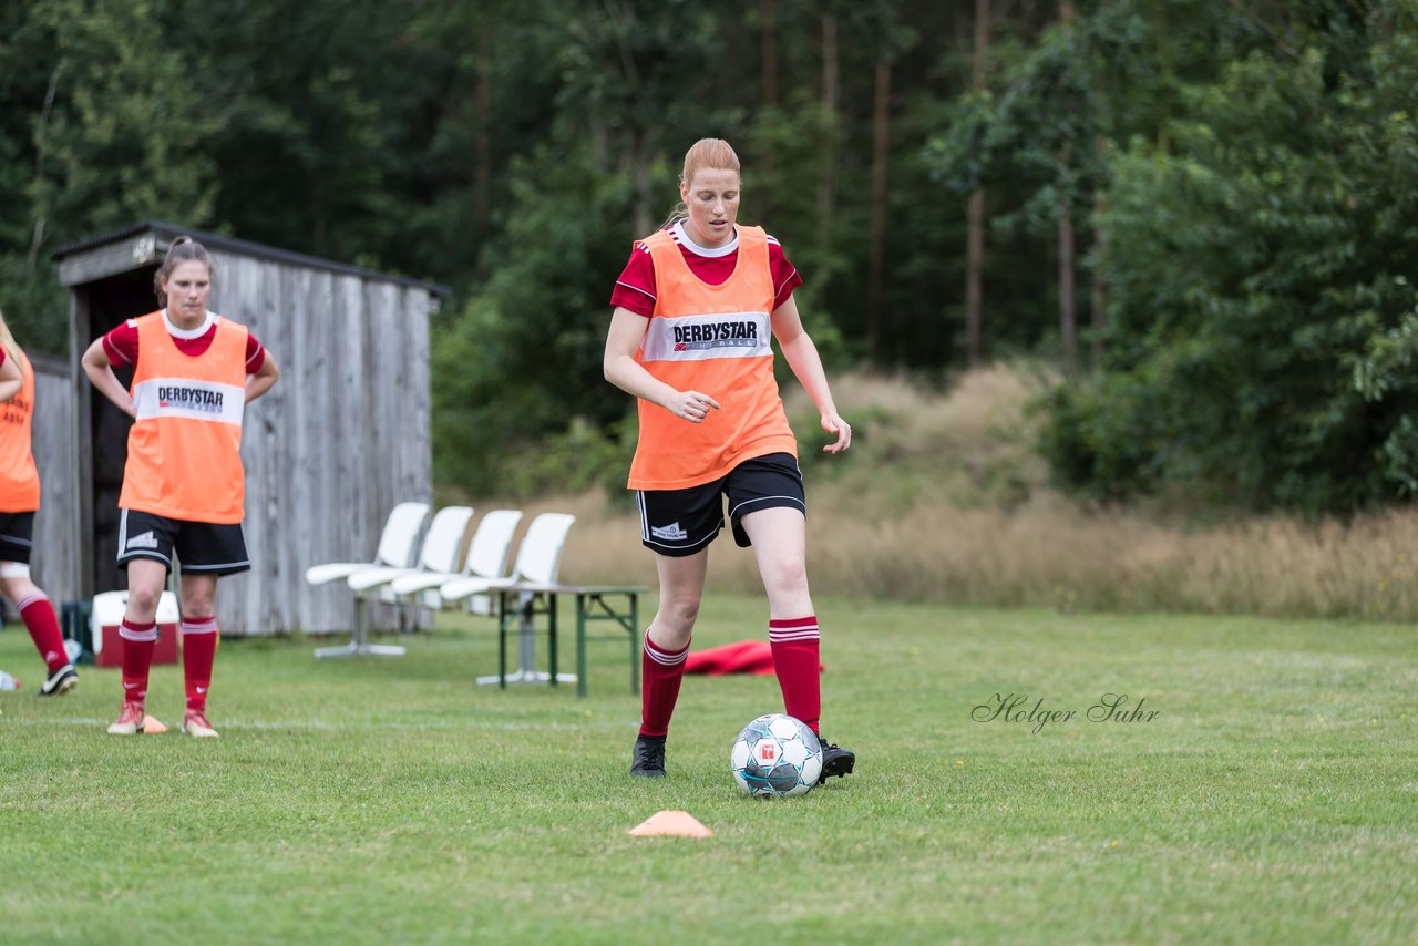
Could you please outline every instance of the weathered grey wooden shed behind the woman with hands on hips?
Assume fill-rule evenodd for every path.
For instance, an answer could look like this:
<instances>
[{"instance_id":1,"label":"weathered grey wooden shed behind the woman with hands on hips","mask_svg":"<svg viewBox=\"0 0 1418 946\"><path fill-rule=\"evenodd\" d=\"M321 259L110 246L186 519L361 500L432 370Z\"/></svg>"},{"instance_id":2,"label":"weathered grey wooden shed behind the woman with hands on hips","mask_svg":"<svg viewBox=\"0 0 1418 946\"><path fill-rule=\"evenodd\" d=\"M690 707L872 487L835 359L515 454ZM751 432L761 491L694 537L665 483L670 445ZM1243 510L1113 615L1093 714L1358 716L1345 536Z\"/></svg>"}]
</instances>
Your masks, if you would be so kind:
<instances>
[{"instance_id":1,"label":"weathered grey wooden shed behind the woman with hands on hips","mask_svg":"<svg viewBox=\"0 0 1418 946\"><path fill-rule=\"evenodd\" d=\"M99 335L157 308L153 274L183 234L211 252L211 311L248 326L281 366L281 382L242 423L252 570L223 579L218 623L234 635L347 630L349 589L312 589L303 573L373 562L394 503L431 499L428 315L445 291L164 223L54 255L69 288L69 359L35 366L35 579L55 600L126 587L115 557L129 420L94 390L79 359ZM119 370L125 384L129 376ZM389 627L397 614L370 608L370 618Z\"/></svg>"}]
</instances>

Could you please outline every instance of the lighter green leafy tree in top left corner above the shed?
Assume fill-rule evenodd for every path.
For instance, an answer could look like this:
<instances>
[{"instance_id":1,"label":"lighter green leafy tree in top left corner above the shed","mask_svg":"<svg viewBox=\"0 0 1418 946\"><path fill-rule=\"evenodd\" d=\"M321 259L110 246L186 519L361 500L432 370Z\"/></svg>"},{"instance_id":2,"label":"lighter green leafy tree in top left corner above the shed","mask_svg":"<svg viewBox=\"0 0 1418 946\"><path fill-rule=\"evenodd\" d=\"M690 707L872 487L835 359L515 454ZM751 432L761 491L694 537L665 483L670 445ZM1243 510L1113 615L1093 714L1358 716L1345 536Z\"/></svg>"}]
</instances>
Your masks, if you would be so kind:
<instances>
[{"instance_id":1,"label":"lighter green leafy tree in top left corner above the shed","mask_svg":"<svg viewBox=\"0 0 1418 946\"><path fill-rule=\"evenodd\" d=\"M50 269L61 244L142 218L211 220L218 128L153 3L10 4L0 38L7 102L0 150L10 193L0 305L27 345L65 347L64 295ZM17 13L23 11L23 13ZM24 169L21 172L21 169ZM17 197L23 196L23 200Z\"/></svg>"}]
</instances>

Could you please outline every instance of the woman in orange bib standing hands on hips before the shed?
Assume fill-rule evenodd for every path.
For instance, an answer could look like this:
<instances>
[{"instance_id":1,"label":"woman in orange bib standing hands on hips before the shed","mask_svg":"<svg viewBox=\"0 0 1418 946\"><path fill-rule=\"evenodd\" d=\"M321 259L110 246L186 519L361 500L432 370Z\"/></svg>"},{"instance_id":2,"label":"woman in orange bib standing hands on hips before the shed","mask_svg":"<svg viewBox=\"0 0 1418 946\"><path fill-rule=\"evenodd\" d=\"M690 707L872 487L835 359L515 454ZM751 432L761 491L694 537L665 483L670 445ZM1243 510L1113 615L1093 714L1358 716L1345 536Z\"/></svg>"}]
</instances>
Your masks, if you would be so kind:
<instances>
[{"instance_id":1,"label":"woman in orange bib standing hands on hips before the shed","mask_svg":"<svg viewBox=\"0 0 1418 946\"><path fill-rule=\"evenodd\" d=\"M163 309L130 319L84 353L94 386L133 418L118 499L118 563L128 570L128 608L118 628L123 703L108 730L132 736L164 729L145 708L157 601L176 553L187 689L182 730L214 738L207 691L217 651L217 579L251 567L241 535L241 417L279 370L245 326L207 311L211 258L200 243L174 240L153 288ZM113 374L121 363L133 366L132 390Z\"/></svg>"}]
</instances>

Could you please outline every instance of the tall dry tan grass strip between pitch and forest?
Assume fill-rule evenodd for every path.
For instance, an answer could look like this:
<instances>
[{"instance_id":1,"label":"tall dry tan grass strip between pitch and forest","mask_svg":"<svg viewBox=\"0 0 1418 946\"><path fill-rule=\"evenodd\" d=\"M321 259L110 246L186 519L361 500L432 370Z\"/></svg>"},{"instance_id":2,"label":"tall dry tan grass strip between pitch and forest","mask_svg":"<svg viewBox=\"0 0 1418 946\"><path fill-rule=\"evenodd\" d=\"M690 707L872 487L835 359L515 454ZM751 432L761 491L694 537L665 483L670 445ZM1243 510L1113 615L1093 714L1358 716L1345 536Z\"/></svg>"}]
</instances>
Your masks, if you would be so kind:
<instances>
[{"instance_id":1,"label":"tall dry tan grass strip between pitch and forest","mask_svg":"<svg viewBox=\"0 0 1418 946\"><path fill-rule=\"evenodd\" d=\"M1418 620L1418 512L1351 522L1236 519L1190 526L1096 511L1046 485L1027 404L1051 383L993 366L934 394L900 379L847 376L854 420L842 458L807 455L811 406L788 399L804 437L814 590L957 604ZM861 418L861 420L856 420ZM563 576L654 586L634 509L603 494L529 508L579 516ZM713 590L760 589L750 550L712 546Z\"/></svg>"}]
</instances>

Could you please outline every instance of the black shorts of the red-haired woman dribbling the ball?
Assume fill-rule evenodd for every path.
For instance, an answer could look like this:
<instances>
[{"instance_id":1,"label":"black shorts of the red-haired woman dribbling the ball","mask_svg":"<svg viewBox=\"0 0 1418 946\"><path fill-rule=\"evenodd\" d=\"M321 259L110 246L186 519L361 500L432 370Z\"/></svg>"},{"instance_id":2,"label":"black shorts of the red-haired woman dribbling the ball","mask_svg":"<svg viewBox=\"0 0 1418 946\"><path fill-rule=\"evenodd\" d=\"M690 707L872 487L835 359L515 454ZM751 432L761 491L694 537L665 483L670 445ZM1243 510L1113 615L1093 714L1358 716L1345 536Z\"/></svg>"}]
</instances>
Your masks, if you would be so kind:
<instances>
[{"instance_id":1,"label":"black shorts of the red-haired woman dribbling the ball","mask_svg":"<svg viewBox=\"0 0 1418 946\"><path fill-rule=\"evenodd\" d=\"M647 549L672 557L693 555L723 529L723 498L729 498L729 523L739 547L749 547L740 519L747 512L791 506L807 515L803 471L793 454L753 457L729 474L688 489L640 491L640 540Z\"/></svg>"}]
</instances>

